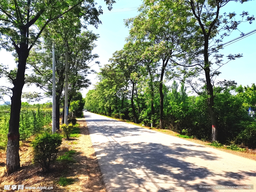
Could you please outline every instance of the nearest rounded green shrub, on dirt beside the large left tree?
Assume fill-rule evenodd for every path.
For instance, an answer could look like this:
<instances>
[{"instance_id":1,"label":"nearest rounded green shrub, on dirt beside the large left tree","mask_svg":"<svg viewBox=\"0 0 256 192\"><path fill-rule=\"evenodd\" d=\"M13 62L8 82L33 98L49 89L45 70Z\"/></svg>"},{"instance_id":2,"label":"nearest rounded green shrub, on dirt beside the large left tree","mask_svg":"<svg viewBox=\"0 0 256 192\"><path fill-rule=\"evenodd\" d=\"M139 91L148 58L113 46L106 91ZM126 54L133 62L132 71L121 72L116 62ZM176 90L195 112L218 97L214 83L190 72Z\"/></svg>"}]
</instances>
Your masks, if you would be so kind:
<instances>
[{"instance_id":1,"label":"nearest rounded green shrub, on dirt beside the large left tree","mask_svg":"<svg viewBox=\"0 0 256 192\"><path fill-rule=\"evenodd\" d=\"M31 142L34 150L34 161L38 162L44 172L48 172L50 164L56 159L62 138L59 134L44 133Z\"/></svg>"}]
</instances>

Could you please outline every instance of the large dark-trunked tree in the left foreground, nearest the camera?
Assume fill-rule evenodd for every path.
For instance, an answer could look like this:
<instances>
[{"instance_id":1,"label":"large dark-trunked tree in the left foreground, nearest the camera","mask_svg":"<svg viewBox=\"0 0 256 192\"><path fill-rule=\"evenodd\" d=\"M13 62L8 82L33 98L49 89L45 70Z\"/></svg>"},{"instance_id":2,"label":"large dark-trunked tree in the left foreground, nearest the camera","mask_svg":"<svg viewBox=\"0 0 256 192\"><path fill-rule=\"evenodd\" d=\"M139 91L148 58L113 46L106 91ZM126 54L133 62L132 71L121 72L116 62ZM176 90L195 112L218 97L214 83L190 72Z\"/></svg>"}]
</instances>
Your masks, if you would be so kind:
<instances>
[{"instance_id":1,"label":"large dark-trunked tree in the left foreground, nearest the camera","mask_svg":"<svg viewBox=\"0 0 256 192\"><path fill-rule=\"evenodd\" d=\"M105 0L111 9L113 0ZM84 4L82 4L84 2ZM53 20L72 11L77 17L84 16L86 21L97 26L98 15L102 13L94 7L93 1L19 1L0 2L0 45L7 51L15 50L18 57L17 70L7 73L13 87L11 97L10 124L6 154L7 174L20 167L19 159L19 119L22 89L25 84L26 61L31 48L38 42L42 31ZM35 27L36 26L36 27ZM35 28L38 29L35 30Z\"/></svg>"}]
</instances>

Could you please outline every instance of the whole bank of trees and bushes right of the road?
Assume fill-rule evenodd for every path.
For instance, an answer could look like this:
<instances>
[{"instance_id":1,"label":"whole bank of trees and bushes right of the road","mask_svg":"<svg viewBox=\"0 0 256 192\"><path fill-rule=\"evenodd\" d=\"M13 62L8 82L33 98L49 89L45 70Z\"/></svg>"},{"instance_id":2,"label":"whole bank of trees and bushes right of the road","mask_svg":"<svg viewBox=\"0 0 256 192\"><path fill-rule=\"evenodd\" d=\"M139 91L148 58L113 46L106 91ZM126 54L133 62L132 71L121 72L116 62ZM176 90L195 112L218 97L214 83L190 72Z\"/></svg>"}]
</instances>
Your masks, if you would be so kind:
<instances>
[{"instance_id":1,"label":"whole bank of trees and bushes right of the road","mask_svg":"<svg viewBox=\"0 0 256 192\"><path fill-rule=\"evenodd\" d=\"M256 148L255 84L216 80L221 66L242 56L222 55L221 42L254 20L247 12L220 16L228 5L143 1L125 21L127 43L101 68L85 108L230 149Z\"/></svg>"}]
</instances>

